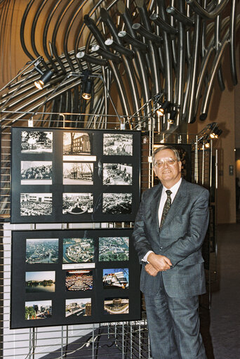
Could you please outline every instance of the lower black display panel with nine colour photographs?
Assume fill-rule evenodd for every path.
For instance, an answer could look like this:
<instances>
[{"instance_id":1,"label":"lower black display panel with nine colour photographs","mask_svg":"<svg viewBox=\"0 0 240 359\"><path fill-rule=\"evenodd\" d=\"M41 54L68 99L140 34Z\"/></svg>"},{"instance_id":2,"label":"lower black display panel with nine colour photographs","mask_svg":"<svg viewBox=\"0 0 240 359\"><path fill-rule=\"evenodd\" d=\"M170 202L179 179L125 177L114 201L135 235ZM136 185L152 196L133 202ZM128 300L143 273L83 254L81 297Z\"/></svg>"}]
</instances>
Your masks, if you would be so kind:
<instances>
[{"instance_id":1,"label":"lower black display panel with nine colour photographs","mask_svg":"<svg viewBox=\"0 0 240 359\"><path fill-rule=\"evenodd\" d=\"M139 320L132 233L13 230L11 329Z\"/></svg>"}]
</instances>

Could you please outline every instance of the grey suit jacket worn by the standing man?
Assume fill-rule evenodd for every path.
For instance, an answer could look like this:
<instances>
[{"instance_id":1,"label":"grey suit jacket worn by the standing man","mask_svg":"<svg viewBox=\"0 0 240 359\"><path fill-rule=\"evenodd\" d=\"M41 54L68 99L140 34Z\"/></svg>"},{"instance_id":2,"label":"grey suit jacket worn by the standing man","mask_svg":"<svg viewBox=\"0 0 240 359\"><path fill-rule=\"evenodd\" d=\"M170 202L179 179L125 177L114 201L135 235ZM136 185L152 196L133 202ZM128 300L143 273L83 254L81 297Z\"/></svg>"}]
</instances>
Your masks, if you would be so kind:
<instances>
[{"instance_id":1,"label":"grey suit jacket worn by the standing man","mask_svg":"<svg viewBox=\"0 0 240 359\"><path fill-rule=\"evenodd\" d=\"M162 188L161 184L156 185L142 195L133 230L140 263L149 250L167 256L173 268L161 273L168 296L183 298L204 294L206 287L201 246L208 228L208 190L182 178L160 232L158 208ZM159 275L153 277L147 274L142 266L142 292L156 294Z\"/></svg>"}]
</instances>

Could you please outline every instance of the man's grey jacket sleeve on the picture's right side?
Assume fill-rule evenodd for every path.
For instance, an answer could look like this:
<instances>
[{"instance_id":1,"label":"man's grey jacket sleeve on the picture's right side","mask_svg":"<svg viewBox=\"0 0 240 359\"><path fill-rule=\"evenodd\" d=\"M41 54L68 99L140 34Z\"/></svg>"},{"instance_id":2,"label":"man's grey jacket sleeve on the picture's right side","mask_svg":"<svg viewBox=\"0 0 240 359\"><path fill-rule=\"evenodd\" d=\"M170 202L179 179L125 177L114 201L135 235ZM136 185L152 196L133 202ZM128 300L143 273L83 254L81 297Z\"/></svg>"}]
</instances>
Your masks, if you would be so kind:
<instances>
[{"instance_id":1,"label":"man's grey jacket sleeve on the picture's right side","mask_svg":"<svg viewBox=\"0 0 240 359\"><path fill-rule=\"evenodd\" d=\"M186 235L179 237L161 252L173 263L173 267L201 248L208 228L209 192L204 189L192 205Z\"/></svg>"}]
</instances>

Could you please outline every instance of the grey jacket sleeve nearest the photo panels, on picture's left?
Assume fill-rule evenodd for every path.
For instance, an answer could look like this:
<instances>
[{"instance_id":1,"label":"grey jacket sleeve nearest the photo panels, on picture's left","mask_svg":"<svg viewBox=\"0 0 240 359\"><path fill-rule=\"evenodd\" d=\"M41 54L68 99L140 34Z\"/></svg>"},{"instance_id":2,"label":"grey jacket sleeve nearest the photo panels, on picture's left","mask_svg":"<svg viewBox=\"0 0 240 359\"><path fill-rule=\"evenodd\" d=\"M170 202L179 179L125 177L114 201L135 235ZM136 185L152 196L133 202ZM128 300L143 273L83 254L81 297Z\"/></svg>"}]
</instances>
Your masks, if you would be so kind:
<instances>
[{"instance_id":1,"label":"grey jacket sleeve nearest the photo panels, on picture's left","mask_svg":"<svg viewBox=\"0 0 240 359\"><path fill-rule=\"evenodd\" d=\"M133 244L136 252L138 253L139 262L147 252L152 251L152 247L145 234L145 193L142 195L140 208L135 218L135 225L133 230Z\"/></svg>"}]
</instances>

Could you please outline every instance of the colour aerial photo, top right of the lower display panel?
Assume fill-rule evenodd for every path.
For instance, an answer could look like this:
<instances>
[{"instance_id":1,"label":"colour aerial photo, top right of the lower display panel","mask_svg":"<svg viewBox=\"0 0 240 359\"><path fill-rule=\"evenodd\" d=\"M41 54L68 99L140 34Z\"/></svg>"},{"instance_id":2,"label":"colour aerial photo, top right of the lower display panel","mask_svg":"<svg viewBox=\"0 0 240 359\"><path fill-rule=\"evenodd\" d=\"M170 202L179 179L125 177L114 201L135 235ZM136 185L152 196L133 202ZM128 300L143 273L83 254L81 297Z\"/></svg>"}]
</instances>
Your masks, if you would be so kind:
<instances>
[{"instance_id":1,"label":"colour aerial photo, top right of the lower display panel","mask_svg":"<svg viewBox=\"0 0 240 359\"><path fill-rule=\"evenodd\" d=\"M99 261L128 261L129 237L100 237Z\"/></svg>"}]
</instances>

